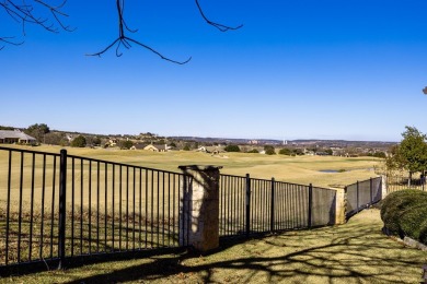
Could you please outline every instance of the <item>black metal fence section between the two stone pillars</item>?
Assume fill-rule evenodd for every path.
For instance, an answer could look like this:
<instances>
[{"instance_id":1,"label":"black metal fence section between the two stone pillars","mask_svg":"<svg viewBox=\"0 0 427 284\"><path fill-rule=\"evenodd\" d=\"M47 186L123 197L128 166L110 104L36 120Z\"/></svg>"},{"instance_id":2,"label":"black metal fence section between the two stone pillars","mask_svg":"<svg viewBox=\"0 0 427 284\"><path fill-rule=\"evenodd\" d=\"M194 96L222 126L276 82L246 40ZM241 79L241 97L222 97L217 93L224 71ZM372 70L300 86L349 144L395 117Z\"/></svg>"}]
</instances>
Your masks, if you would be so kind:
<instances>
[{"instance_id":1,"label":"black metal fence section between the two stone pillars","mask_svg":"<svg viewBox=\"0 0 427 284\"><path fill-rule=\"evenodd\" d=\"M335 215L335 190L221 175L220 236L333 225Z\"/></svg>"}]
</instances>

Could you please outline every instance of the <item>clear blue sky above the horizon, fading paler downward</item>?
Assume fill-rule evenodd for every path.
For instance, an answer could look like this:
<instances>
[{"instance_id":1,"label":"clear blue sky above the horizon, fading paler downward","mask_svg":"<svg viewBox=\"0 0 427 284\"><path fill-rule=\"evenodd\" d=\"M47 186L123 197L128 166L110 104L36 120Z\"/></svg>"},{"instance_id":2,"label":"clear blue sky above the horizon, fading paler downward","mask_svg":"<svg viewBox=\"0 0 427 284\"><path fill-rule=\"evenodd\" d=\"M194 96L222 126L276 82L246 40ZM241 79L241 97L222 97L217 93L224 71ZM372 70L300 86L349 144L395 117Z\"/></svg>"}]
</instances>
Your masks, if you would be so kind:
<instances>
[{"instance_id":1,"label":"clear blue sky above the horizon, fading paler downward","mask_svg":"<svg viewBox=\"0 0 427 284\"><path fill-rule=\"evenodd\" d=\"M77 29L26 26L0 51L0 125L91 133L400 141L427 133L427 1L127 0L134 46L117 36L115 1L69 1ZM0 10L0 36L22 38Z\"/></svg>"}]
</instances>

